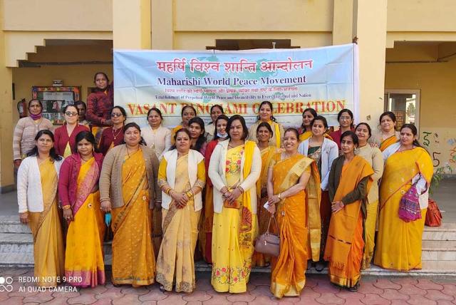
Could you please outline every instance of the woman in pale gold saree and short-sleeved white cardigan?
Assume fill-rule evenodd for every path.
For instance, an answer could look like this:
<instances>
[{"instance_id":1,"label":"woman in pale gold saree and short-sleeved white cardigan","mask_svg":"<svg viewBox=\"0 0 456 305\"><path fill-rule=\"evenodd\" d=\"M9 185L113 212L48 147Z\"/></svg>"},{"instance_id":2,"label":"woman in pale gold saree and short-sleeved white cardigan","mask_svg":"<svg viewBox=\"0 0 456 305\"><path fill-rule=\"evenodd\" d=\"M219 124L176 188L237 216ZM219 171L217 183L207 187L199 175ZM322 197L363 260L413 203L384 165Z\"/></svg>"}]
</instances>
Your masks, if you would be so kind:
<instances>
[{"instance_id":1,"label":"woman in pale gold saree and short-sleeved white cardigan","mask_svg":"<svg viewBox=\"0 0 456 305\"><path fill-rule=\"evenodd\" d=\"M190 132L182 128L175 149L163 155L158 171L162 189L163 242L157 257L160 290L192 292L195 285L194 254L202 209L201 191L206 180L204 157L190 150Z\"/></svg>"}]
</instances>

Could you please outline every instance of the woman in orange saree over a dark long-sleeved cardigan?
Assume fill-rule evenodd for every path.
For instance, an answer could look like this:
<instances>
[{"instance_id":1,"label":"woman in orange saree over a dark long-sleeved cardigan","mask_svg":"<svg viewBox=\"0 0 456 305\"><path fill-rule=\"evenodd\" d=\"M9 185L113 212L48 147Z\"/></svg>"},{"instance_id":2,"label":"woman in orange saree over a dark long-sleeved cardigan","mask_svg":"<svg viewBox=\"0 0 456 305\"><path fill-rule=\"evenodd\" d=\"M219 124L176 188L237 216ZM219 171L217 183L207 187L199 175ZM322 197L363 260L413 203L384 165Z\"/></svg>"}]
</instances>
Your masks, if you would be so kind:
<instances>
[{"instance_id":1,"label":"woman in orange saree over a dark long-sleeved cardigan","mask_svg":"<svg viewBox=\"0 0 456 305\"><path fill-rule=\"evenodd\" d=\"M343 155L334 160L329 173L332 215L324 254L331 283L350 291L358 291L361 279L363 218L373 175L371 165L355 155L357 146L358 137L353 131L342 133Z\"/></svg>"}]
</instances>

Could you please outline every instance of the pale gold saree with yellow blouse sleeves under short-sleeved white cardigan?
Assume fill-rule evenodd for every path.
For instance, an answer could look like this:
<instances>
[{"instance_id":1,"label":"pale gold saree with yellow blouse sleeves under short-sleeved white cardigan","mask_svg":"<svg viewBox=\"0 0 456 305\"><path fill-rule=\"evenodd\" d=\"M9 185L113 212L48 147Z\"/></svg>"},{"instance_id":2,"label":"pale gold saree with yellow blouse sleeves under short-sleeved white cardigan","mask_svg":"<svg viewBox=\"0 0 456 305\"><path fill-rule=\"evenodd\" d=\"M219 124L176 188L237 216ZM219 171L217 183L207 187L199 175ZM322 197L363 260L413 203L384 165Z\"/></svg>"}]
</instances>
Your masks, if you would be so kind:
<instances>
[{"instance_id":1,"label":"pale gold saree with yellow blouse sleeves under short-sleeved white cardigan","mask_svg":"<svg viewBox=\"0 0 456 305\"><path fill-rule=\"evenodd\" d=\"M188 162L188 155L177 158L174 187L176 192L187 192L192 188ZM167 161L163 158L160 162L158 180L167 181L166 167ZM198 164L197 180L204 184L205 179L203 160ZM163 241L157 257L157 282L167 291L172 290L173 282L176 292L190 293L196 288L193 257L198 240L200 215L201 210L195 211L194 200L189 200L182 209L177 208L174 201L170 203L169 209L162 209Z\"/></svg>"}]
</instances>

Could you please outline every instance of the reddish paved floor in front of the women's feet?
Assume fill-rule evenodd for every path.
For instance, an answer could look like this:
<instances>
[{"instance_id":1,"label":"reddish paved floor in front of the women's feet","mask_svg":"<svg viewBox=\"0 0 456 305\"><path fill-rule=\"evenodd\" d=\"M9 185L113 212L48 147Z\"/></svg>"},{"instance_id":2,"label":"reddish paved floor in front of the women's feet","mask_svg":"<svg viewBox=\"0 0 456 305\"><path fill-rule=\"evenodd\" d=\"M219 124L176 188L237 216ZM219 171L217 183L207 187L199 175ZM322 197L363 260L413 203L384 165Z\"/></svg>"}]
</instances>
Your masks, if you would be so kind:
<instances>
[{"instance_id":1,"label":"reddish paved floor in front of the women's feet","mask_svg":"<svg viewBox=\"0 0 456 305\"><path fill-rule=\"evenodd\" d=\"M112 284L77 292L33 291L33 284L19 283L18 276L33 276L32 269L0 269L0 276L12 276L11 292L0 289L0 304L456 304L456 278L415 278L410 276L365 276L358 292L332 286L327 276L307 276L299 297L275 299L269 291L269 274L252 274L244 294L215 292L209 272L197 274L197 289L192 294L162 293L157 284L134 289ZM1 279L0 279L1 281ZM0 286L1 287L1 286ZM19 291L20 287L23 287ZM28 291L29 290L29 291Z\"/></svg>"}]
</instances>

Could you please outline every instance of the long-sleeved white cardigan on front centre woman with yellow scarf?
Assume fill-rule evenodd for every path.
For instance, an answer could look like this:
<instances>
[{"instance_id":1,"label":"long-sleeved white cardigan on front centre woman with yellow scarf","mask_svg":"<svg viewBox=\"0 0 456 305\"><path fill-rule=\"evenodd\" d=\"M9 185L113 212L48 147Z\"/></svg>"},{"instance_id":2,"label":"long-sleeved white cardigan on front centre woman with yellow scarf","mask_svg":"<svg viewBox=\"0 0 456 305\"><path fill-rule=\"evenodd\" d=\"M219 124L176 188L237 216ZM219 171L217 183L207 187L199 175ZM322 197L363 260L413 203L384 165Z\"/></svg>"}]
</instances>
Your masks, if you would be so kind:
<instances>
[{"instance_id":1,"label":"long-sleeved white cardigan on front centre woman with yellow scarf","mask_svg":"<svg viewBox=\"0 0 456 305\"><path fill-rule=\"evenodd\" d=\"M223 187L227 187L227 179L225 177L225 168L227 162L227 151L229 141L222 141L217 144L212 153L211 160L209 162L209 178L211 178L212 185L214 185L214 212L221 213L223 207L223 197L220 190ZM245 155L242 155L241 159L241 173L244 172ZM261 173L261 153L259 148L255 145L254 155L252 160L252 169L249 175L244 180L241 174L240 187L245 192L250 192L250 198L252 200L252 213L257 214L257 180Z\"/></svg>"}]
</instances>

